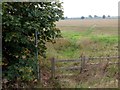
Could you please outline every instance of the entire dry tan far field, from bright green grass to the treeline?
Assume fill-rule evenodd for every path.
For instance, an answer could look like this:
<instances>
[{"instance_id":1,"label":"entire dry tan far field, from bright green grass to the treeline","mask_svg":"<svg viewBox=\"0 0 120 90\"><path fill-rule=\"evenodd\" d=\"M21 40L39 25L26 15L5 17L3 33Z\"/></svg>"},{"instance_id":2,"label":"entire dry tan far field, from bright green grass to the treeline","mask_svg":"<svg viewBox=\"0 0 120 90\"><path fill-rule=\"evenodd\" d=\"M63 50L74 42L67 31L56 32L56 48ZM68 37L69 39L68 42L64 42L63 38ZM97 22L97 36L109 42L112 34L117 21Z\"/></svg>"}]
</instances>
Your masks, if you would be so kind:
<instances>
[{"instance_id":1,"label":"entire dry tan far field, from bright green grass to the treeline","mask_svg":"<svg viewBox=\"0 0 120 90\"><path fill-rule=\"evenodd\" d=\"M118 34L117 19L88 19L88 20L61 20L56 23L62 31L78 31L84 32L88 28L94 26L95 34L103 33L109 35ZM101 31L102 30L102 31Z\"/></svg>"}]
</instances>

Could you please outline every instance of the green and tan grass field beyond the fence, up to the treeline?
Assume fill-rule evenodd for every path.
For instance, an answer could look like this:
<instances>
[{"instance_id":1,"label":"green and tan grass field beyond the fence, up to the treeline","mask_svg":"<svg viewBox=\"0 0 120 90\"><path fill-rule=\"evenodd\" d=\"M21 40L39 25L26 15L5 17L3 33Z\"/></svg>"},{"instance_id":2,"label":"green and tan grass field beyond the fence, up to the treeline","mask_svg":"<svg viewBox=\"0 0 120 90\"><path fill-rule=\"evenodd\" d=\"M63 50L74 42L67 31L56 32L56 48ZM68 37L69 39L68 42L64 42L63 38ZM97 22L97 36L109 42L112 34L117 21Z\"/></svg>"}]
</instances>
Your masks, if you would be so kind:
<instances>
[{"instance_id":1,"label":"green and tan grass field beyond the fence, up to the treeline","mask_svg":"<svg viewBox=\"0 0 120 90\"><path fill-rule=\"evenodd\" d=\"M63 38L57 39L54 45L48 44L48 55L51 50L54 57L64 59L78 58L81 53L117 55L117 25L117 19L61 20L57 27Z\"/></svg>"}]
</instances>

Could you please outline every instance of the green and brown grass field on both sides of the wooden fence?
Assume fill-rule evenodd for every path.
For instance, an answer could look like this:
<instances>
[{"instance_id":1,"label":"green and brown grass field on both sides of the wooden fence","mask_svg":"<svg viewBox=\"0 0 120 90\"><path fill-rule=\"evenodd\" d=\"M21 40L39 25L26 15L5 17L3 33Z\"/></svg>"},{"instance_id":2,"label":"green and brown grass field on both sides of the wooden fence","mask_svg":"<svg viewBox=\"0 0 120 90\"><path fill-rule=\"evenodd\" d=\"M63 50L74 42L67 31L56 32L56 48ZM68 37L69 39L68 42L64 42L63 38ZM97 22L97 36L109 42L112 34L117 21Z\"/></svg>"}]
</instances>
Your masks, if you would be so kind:
<instances>
[{"instance_id":1,"label":"green and brown grass field on both sides of the wooden fence","mask_svg":"<svg viewBox=\"0 0 120 90\"><path fill-rule=\"evenodd\" d=\"M56 25L62 32L62 38L56 39L55 44L46 44L48 48L46 62L51 57L78 59L81 54L89 57L118 55L117 19L61 20ZM63 63L57 66L68 65L68 63ZM72 63L71 65L76 64ZM50 67L50 63L47 63L46 66ZM88 72L83 74L79 74L77 71L68 71L77 76L61 78L59 80L60 87L117 87L117 66L108 66L105 74L100 68L90 68L87 68ZM67 71L62 72L62 74L64 73Z\"/></svg>"}]
</instances>

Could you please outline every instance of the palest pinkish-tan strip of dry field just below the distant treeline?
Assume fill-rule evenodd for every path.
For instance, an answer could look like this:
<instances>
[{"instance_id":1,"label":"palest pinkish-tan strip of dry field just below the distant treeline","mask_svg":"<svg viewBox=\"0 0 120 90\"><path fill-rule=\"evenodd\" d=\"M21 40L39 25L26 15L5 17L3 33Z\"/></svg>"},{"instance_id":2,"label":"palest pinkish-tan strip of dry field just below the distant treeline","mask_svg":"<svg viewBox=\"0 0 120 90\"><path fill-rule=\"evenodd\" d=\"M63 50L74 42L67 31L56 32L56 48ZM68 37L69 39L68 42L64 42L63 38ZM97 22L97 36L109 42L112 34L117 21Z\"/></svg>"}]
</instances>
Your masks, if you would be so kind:
<instances>
[{"instance_id":1,"label":"palest pinkish-tan strip of dry field just below the distant treeline","mask_svg":"<svg viewBox=\"0 0 120 90\"><path fill-rule=\"evenodd\" d=\"M92 25L97 25L98 27L117 27L117 19L85 19L85 20L61 20L56 23L58 27L60 26L80 26L80 27L90 27Z\"/></svg>"}]
</instances>

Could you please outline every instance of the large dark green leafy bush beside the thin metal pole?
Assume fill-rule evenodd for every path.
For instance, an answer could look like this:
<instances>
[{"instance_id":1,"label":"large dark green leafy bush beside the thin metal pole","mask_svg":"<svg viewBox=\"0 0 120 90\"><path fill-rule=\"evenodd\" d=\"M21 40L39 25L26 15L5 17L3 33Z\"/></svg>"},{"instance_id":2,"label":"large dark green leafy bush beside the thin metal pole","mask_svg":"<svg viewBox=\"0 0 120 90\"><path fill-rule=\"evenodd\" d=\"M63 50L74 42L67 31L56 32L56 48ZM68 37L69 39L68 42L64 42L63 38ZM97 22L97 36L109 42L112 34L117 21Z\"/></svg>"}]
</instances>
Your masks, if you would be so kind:
<instances>
[{"instance_id":1,"label":"large dark green leafy bush beside the thin metal pole","mask_svg":"<svg viewBox=\"0 0 120 90\"><path fill-rule=\"evenodd\" d=\"M30 81L36 75L34 33L38 50L45 56L46 42L61 35L54 22L63 18L60 2L2 3L3 77Z\"/></svg>"}]
</instances>

